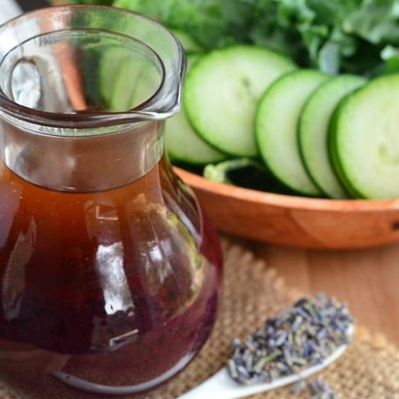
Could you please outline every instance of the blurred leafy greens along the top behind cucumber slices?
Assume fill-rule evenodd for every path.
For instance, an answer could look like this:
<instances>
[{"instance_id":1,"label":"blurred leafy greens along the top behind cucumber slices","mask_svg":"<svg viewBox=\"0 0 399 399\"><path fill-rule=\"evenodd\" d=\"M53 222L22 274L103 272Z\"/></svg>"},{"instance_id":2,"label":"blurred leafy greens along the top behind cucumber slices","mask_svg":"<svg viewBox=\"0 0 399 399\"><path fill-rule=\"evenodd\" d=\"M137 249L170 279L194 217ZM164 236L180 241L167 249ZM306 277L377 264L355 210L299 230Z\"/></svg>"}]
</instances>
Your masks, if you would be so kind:
<instances>
[{"instance_id":1,"label":"blurred leafy greens along the top behind cucumber slices","mask_svg":"<svg viewBox=\"0 0 399 399\"><path fill-rule=\"evenodd\" d=\"M69 0L109 4L110 0ZM205 49L264 45L327 73L398 71L386 46L399 47L399 0L115 0L190 33Z\"/></svg>"}]
</instances>

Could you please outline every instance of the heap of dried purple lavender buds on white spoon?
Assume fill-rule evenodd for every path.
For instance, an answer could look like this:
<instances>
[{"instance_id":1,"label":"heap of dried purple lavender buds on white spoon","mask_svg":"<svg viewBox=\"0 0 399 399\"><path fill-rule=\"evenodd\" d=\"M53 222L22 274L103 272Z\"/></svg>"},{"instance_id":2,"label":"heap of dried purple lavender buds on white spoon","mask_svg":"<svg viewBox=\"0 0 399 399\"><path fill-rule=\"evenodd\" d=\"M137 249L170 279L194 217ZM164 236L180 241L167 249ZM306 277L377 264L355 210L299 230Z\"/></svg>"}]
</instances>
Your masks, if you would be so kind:
<instances>
[{"instance_id":1,"label":"heap of dried purple lavender buds on white spoon","mask_svg":"<svg viewBox=\"0 0 399 399\"><path fill-rule=\"evenodd\" d=\"M267 319L247 341L233 340L227 369L242 385L300 374L348 344L352 325L345 304L324 294L302 298L277 318Z\"/></svg>"}]
</instances>

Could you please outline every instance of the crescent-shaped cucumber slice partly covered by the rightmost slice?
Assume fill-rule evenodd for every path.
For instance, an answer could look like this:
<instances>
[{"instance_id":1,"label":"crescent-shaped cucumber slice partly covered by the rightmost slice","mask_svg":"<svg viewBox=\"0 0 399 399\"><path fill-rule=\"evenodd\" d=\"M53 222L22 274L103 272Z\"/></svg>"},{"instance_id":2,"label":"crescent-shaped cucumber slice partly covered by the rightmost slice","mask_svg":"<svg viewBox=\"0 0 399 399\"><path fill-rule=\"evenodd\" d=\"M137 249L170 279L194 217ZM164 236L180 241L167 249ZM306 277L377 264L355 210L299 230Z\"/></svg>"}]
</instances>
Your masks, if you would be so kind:
<instances>
[{"instance_id":1,"label":"crescent-shaped cucumber slice partly covered by the rightmost slice","mask_svg":"<svg viewBox=\"0 0 399 399\"><path fill-rule=\"evenodd\" d=\"M299 120L299 148L302 160L316 186L330 198L347 198L331 166L328 129L338 103L365 85L366 79L342 75L324 83L306 103Z\"/></svg>"}]
</instances>

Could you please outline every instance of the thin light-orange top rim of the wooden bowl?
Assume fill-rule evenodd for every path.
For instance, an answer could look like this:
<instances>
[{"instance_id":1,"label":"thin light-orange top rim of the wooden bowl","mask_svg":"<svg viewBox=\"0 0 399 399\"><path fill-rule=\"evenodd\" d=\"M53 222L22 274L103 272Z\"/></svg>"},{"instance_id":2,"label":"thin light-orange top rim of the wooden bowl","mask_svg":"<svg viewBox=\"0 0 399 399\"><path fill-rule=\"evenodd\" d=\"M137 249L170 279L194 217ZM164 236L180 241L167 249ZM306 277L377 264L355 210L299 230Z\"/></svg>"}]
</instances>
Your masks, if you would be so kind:
<instances>
[{"instance_id":1,"label":"thin light-orange top rim of the wooden bowl","mask_svg":"<svg viewBox=\"0 0 399 399\"><path fill-rule=\"evenodd\" d=\"M325 199L273 194L249 188L231 186L207 180L202 176L174 167L174 170L187 184L196 190L234 197L241 201L256 202L290 209L336 211L336 212L371 212L398 211L399 198L394 199Z\"/></svg>"}]
</instances>

